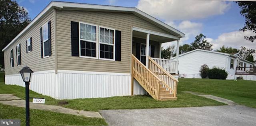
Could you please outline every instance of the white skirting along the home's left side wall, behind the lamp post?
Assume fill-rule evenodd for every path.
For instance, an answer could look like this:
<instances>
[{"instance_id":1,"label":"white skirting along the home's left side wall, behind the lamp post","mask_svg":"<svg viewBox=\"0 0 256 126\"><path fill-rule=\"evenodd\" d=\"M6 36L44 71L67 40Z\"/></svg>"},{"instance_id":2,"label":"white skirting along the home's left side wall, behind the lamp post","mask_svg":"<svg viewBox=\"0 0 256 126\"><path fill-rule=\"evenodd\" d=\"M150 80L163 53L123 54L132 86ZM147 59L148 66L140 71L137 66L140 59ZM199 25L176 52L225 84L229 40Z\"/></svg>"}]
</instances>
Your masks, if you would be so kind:
<instances>
[{"instance_id":1,"label":"white skirting along the home's left side wall, behind the lamp post","mask_svg":"<svg viewBox=\"0 0 256 126\"><path fill-rule=\"evenodd\" d=\"M34 72L30 82L30 90L53 98L58 98L58 88L55 78L56 74L54 73L54 70ZM25 87L25 83L23 82L20 74L6 75L5 84Z\"/></svg>"}]
</instances>

